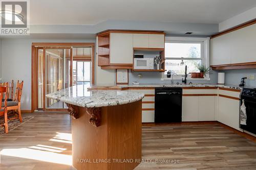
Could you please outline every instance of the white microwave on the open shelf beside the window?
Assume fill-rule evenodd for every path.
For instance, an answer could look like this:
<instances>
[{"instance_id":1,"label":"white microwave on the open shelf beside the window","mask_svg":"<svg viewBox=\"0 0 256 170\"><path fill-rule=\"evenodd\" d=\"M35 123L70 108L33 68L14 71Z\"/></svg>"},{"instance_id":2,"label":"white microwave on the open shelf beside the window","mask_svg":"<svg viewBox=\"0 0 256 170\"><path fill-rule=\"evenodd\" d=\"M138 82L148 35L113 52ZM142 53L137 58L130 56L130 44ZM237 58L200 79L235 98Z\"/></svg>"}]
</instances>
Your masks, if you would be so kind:
<instances>
[{"instance_id":1,"label":"white microwave on the open shelf beside the window","mask_svg":"<svg viewBox=\"0 0 256 170\"><path fill-rule=\"evenodd\" d=\"M154 69L154 59L134 58L134 69Z\"/></svg>"}]
</instances>

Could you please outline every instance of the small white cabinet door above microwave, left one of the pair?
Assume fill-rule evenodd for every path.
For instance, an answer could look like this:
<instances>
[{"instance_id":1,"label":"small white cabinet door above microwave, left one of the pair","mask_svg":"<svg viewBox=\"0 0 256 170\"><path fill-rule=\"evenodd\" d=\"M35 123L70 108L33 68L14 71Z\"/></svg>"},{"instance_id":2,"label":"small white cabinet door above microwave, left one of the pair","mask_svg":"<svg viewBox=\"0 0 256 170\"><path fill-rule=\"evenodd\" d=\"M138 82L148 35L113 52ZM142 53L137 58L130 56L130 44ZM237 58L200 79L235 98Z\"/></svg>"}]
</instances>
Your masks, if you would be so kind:
<instances>
[{"instance_id":1,"label":"small white cabinet door above microwave, left one of the pair","mask_svg":"<svg viewBox=\"0 0 256 170\"><path fill-rule=\"evenodd\" d=\"M133 34L134 48L148 48L148 34Z\"/></svg>"}]
</instances>

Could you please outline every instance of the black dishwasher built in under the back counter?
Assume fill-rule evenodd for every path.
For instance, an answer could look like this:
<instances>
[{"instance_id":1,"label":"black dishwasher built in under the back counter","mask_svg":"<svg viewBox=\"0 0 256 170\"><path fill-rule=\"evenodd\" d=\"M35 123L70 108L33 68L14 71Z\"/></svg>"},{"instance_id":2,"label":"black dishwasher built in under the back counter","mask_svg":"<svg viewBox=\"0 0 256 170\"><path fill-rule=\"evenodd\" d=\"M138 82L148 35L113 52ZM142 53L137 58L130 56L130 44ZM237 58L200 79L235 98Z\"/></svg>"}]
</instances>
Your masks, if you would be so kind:
<instances>
[{"instance_id":1,"label":"black dishwasher built in under the back counter","mask_svg":"<svg viewBox=\"0 0 256 170\"><path fill-rule=\"evenodd\" d=\"M181 122L182 88L155 88L155 123Z\"/></svg>"}]
</instances>

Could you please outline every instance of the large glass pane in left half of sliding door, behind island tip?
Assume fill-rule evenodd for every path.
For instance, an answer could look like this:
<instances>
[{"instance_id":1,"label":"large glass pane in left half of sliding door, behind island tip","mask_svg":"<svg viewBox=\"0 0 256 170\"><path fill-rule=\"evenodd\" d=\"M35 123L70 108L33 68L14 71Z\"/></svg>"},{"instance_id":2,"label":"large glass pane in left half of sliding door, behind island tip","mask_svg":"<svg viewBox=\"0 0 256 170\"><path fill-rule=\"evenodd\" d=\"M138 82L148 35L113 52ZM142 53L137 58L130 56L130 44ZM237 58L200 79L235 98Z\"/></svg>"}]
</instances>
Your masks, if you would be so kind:
<instances>
[{"instance_id":1,"label":"large glass pane in left half of sliding door, behind island tip","mask_svg":"<svg viewBox=\"0 0 256 170\"><path fill-rule=\"evenodd\" d=\"M70 49L46 49L46 94L70 86ZM46 98L46 108L66 108L63 102Z\"/></svg>"}]
</instances>

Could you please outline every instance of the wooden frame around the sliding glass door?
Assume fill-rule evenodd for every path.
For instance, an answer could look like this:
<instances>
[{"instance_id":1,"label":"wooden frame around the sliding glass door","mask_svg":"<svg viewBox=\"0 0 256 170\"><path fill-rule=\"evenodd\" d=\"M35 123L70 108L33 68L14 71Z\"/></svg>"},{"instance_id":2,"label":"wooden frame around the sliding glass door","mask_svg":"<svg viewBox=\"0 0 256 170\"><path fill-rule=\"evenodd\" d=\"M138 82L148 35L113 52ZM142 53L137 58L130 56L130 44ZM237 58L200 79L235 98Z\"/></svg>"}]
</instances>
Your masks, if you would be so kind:
<instances>
[{"instance_id":1,"label":"wooden frame around the sliding glass door","mask_svg":"<svg viewBox=\"0 0 256 170\"><path fill-rule=\"evenodd\" d=\"M94 85L94 71L95 71L95 43L94 42L32 42L31 45L31 110L28 111L30 113L34 112L35 109L37 108L37 50L36 48L40 48L43 46L54 46L54 47L86 47L90 46L92 47L92 85ZM72 49L72 48L71 48ZM72 50L71 50L72 52ZM73 58L73 53L71 55L71 59ZM44 59L45 61L45 59ZM45 63L44 63L45 66ZM45 69L45 67L43 68ZM72 66L71 66L72 70ZM72 71L70 72L70 82L72 85ZM44 79L45 80L45 79ZM63 111L63 109L51 109L51 111Z\"/></svg>"}]
</instances>

